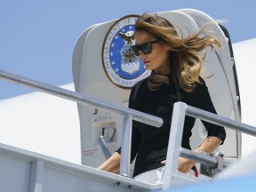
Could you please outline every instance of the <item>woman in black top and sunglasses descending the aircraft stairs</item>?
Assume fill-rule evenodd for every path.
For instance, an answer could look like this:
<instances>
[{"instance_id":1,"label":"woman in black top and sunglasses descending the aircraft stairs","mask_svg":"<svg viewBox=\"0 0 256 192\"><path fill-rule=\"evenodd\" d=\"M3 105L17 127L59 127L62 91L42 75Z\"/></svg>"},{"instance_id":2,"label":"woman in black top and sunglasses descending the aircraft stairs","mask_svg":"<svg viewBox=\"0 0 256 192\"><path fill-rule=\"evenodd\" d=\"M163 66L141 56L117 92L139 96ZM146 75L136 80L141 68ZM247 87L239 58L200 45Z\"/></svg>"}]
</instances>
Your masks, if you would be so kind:
<instances>
[{"instance_id":1,"label":"woman in black top and sunglasses descending the aircraft stairs","mask_svg":"<svg viewBox=\"0 0 256 192\"><path fill-rule=\"evenodd\" d=\"M161 182L172 121L173 104L182 101L190 106L216 113L200 71L204 58L199 56L207 47L220 47L214 36L199 37L196 34L180 38L172 24L156 14L143 14L135 24L136 45L132 51L152 70L148 78L132 87L129 108L159 116L164 124L156 129L147 124L132 123L132 156L135 159L133 177L148 182ZM189 138L195 118L186 116L182 137L182 148L190 148ZM226 137L223 127L203 122L208 136L195 149L196 152L212 153ZM119 148L101 164L99 169L118 172L120 166ZM195 162L180 157L178 169L189 172Z\"/></svg>"}]
</instances>

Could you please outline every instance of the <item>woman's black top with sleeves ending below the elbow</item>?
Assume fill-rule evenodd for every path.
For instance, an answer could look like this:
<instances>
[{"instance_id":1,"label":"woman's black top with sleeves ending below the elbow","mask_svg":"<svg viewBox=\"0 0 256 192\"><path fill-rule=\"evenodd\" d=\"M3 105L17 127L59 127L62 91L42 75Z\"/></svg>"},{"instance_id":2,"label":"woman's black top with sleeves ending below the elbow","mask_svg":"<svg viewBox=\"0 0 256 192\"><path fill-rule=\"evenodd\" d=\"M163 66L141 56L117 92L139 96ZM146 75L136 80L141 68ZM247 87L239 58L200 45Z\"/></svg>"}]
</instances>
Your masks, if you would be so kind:
<instances>
[{"instance_id":1,"label":"woman's black top with sleeves ending below the elbow","mask_svg":"<svg viewBox=\"0 0 256 192\"><path fill-rule=\"evenodd\" d=\"M137 121L132 122L132 147L131 163L136 157L133 176L142 172L148 172L163 166L161 164L166 159L168 141L170 135L173 104L182 101L190 106L201 108L215 113L208 88L202 80L202 84L196 84L194 92L185 92L179 90L180 99L172 82L163 84L157 91L148 89L148 78L142 80L140 84L132 87L130 94L129 108L133 108L153 116L163 118L164 124L160 128L142 124ZM138 87L139 86L139 87ZM136 91L135 91L136 90ZM136 94L136 95L135 95ZM192 128L195 124L195 118L186 116L182 142L182 148L190 148L189 138L192 135ZM202 121L208 136L215 136L224 141L226 138L225 129L219 125L210 124ZM116 150L121 154L121 148Z\"/></svg>"}]
</instances>

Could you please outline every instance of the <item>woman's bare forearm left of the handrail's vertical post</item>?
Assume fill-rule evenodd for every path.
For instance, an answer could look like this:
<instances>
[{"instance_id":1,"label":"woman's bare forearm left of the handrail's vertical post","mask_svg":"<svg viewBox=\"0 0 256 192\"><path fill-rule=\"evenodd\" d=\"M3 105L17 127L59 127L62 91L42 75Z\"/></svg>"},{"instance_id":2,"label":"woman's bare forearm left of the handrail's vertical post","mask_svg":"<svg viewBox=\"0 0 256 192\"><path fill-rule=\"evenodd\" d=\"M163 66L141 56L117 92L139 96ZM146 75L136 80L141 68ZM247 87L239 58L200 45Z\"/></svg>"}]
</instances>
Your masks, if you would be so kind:
<instances>
[{"instance_id":1,"label":"woman's bare forearm left of the handrail's vertical post","mask_svg":"<svg viewBox=\"0 0 256 192\"><path fill-rule=\"evenodd\" d=\"M100 164L100 166L97 168L102 171L106 172L118 172L120 168L120 158L121 156L115 152L112 156L110 156L107 161L105 161L103 164Z\"/></svg>"}]
</instances>

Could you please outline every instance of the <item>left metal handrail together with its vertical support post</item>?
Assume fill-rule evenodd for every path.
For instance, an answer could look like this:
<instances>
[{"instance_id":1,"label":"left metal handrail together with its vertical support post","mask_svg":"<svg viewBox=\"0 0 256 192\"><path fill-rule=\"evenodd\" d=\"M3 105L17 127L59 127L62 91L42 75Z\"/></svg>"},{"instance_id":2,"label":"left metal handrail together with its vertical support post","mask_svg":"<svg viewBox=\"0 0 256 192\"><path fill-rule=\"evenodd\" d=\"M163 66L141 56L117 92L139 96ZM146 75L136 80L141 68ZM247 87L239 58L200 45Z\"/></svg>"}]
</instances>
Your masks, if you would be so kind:
<instances>
[{"instance_id":1,"label":"left metal handrail together with its vertical support post","mask_svg":"<svg viewBox=\"0 0 256 192\"><path fill-rule=\"evenodd\" d=\"M106 100L97 100L95 98L86 96L79 92L72 92L58 86L53 86L51 84L44 84L36 80L18 76L4 70L0 70L0 76L4 80L8 80L13 84L25 85L30 88L34 88L38 91L49 93L66 100L73 100L76 103L82 105L89 105L97 108L105 109L116 115L124 116L123 120L123 135L122 135L122 156L120 162L120 174L124 176L130 176L130 154L131 154L131 132L132 132L132 120L136 120L143 124L149 124L155 127L160 127L163 124L163 119L157 116L151 116L146 113L134 110L132 108L125 108L120 105L110 103Z\"/></svg>"}]
</instances>

